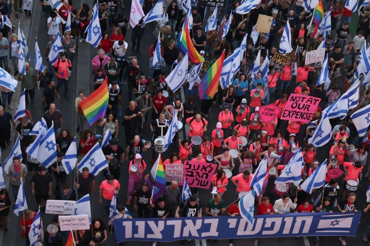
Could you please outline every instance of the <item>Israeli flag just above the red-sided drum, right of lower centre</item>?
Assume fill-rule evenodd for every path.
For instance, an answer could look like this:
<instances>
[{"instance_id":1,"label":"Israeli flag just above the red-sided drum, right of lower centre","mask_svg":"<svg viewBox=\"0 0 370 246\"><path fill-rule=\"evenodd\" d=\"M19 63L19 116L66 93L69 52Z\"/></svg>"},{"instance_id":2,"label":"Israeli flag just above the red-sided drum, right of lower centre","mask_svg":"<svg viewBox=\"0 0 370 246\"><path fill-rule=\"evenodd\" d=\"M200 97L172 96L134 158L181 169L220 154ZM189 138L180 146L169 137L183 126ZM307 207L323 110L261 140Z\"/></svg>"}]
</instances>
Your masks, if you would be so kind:
<instances>
[{"instance_id":1,"label":"Israeli flag just above the red-sided drum, right of lower centre","mask_svg":"<svg viewBox=\"0 0 370 246\"><path fill-rule=\"evenodd\" d=\"M303 162L302 150L299 148L293 157L281 171L280 176L275 179L275 183L294 183L296 186L301 181L302 168L305 166Z\"/></svg>"}]
</instances>

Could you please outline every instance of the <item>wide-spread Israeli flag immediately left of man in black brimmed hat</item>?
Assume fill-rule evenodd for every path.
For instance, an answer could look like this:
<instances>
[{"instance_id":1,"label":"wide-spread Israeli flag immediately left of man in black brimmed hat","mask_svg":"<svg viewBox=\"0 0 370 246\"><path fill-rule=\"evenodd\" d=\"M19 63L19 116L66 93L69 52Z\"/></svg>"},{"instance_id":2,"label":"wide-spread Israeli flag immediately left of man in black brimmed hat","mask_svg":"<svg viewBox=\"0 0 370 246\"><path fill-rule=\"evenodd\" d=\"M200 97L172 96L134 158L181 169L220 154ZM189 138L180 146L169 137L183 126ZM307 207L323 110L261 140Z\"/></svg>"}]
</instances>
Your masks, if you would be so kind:
<instances>
[{"instance_id":1,"label":"wide-spread Israeli flag immediately left of man in black brimmed hat","mask_svg":"<svg viewBox=\"0 0 370 246\"><path fill-rule=\"evenodd\" d=\"M94 147L81 159L78 164L78 171L82 172L82 169L87 167L89 173L92 175L98 175L101 170L108 167L107 160L100 148L98 142L95 143Z\"/></svg>"}]
</instances>

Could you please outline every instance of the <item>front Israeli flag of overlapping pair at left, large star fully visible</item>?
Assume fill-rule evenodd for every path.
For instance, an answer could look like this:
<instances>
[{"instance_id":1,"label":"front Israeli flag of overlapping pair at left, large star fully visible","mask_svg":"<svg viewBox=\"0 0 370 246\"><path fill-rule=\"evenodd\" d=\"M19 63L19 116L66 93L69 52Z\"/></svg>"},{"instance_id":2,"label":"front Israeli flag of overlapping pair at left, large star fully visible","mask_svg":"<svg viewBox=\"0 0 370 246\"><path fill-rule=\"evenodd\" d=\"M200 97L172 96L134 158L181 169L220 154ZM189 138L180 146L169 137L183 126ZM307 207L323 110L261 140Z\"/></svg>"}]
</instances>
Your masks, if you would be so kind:
<instances>
[{"instance_id":1,"label":"front Israeli flag of overlapping pair at left, large star fully visible","mask_svg":"<svg viewBox=\"0 0 370 246\"><path fill-rule=\"evenodd\" d=\"M55 141L54 121L51 123L51 127L46 131L43 139L40 141L37 159L46 168L57 161L57 142Z\"/></svg>"}]
</instances>

